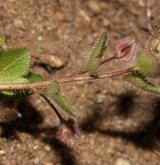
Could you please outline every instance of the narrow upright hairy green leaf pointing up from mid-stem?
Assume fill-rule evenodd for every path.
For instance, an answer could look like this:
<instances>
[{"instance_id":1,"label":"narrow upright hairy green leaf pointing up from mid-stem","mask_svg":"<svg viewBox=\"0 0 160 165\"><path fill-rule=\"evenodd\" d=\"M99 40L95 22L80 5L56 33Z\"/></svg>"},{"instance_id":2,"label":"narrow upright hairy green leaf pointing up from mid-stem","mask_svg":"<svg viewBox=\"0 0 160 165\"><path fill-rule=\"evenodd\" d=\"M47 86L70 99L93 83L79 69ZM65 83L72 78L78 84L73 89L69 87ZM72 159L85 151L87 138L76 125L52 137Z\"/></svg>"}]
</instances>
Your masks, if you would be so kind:
<instances>
[{"instance_id":1,"label":"narrow upright hairy green leaf pointing up from mid-stem","mask_svg":"<svg viewBox=\"0 0 160 165\"><path fill-rule=\"evenodd\" d=\"M86 64L86 71L90 73L95 73L100 65L100 60L103 57L106 51L106 41L107 41L107 33L104 32L98 39L94 48L92 49L89 59Z\"/></svg>"}]
</instances>

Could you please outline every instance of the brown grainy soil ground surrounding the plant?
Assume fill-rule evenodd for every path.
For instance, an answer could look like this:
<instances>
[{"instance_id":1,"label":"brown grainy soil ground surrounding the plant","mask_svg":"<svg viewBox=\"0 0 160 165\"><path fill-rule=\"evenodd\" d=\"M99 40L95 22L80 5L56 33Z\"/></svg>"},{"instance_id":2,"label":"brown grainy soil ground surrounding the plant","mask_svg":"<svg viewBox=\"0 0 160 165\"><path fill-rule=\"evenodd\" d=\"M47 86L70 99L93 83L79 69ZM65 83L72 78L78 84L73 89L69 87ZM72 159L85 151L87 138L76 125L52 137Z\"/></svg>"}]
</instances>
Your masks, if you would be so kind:
<instances>
[{"instance_id":1,"label":"brown grainy soil ground surrounding the plant","mask_svg":"<svg viewBox=\"0 0 160 165\"><path fill-rule=\"evenodd\" d=\"M159 0L152 22L159 25ZM27 47L32 70L46 78L79 71L99 34L109 45L133 37L145 45L144 0L0 0L0 33L9 47ZM109 56L109 55L108 55ZM125 67L109 63L101 72ZM0 138L0 165L159 165L160 98L122 80L68 84L81 136L73 148L55 136L58 119L37 95L20 102L22 119Z\"/></svg>"}]
</instances>

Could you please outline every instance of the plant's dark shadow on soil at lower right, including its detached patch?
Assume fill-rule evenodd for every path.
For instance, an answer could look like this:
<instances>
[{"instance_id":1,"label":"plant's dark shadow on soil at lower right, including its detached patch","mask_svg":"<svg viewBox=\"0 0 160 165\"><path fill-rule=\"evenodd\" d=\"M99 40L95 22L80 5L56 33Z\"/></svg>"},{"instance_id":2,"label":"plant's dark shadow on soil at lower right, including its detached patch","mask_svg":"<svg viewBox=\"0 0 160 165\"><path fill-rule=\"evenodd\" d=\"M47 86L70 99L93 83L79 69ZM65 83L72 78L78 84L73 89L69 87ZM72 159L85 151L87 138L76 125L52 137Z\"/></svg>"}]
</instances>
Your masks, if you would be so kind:
<instances>
[{"instance_id":1,"label":"plant's dark shadow on soil at lower right, including its detached patch","mask_svg":"<svg viewBox=\"0 0 160 165\"><path fill-rule=\"evenodd\" d=\"M111 94L112 95L112 94ZM120 95L112 95L116 98L116 115L128 118L130 114L135 111L133 105L136 95L133 92L122 93ZM115 104L115 103L114 103ZM108 116L105 112L101 113L101 109L96 107L92 108L92 115L87 118L82 124L81 128L86 133L98 132L100 134L111 136L113 138L123 138L137 147L147 150L160 151L160 99L155 99L151 103L154 105L152 108L152 120L145 122L135 131L117 131L111 129L101 129L97 127L104 117Z\"/></svg>"}]
</instances>

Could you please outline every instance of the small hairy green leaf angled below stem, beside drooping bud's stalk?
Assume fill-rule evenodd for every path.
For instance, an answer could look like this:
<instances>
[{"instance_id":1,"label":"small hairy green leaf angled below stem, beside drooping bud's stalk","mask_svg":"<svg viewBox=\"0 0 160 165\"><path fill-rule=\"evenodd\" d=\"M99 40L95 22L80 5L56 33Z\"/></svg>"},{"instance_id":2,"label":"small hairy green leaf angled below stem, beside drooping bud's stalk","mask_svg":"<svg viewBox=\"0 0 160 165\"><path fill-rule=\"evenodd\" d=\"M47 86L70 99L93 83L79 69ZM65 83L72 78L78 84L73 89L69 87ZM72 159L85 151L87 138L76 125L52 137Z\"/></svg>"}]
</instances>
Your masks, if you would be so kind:
<instances>
[{"instance_id":1,"label":"small hairy green leaf angled below stem, beside drooping bud's stalk","mask_svg":"<svg viewBox=\"0 0 160 165\"><path fill-rule=\"evenodd\" d=\"M70 115L75 116L73 113L74 108L67 97L62 95L54 95L53 99L63 110L68 112Z\"/></svg>"}]
</instances>

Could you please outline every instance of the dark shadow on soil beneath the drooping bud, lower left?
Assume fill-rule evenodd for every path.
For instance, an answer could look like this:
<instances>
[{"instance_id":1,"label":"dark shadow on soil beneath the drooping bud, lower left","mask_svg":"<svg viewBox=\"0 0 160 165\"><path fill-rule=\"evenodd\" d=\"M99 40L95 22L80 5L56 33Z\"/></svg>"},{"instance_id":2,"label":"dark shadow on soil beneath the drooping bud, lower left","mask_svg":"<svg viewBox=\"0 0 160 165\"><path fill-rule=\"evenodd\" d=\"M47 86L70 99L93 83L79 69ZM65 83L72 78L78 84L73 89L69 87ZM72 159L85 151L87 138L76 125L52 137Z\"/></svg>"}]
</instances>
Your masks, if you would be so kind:
<instances>
[{"instance_id":1,"label":"dark shadow on soil beneath the drooping bud, lower left","mask_svg":"<svg viewBox=\"0 0 160 165\"><path fill-rule=\"evenodd\" d=\"M22 114L23 118L12 122L10 124L5 124L6 127L5 137L9 140L18 139L18 134L16 132L27 132L33 137L40 139L44 143L51 146L55 151L62 165L75 165L76 159L72 153L72 149L62 144L58 139L56 139L56 127L42 127L40 124L43 123L43 116L34 109L28 102L23 101L18 106L18 111ZM43 134L43 135L42 135Z\"/></svg>"}]
</instances>

